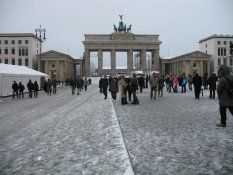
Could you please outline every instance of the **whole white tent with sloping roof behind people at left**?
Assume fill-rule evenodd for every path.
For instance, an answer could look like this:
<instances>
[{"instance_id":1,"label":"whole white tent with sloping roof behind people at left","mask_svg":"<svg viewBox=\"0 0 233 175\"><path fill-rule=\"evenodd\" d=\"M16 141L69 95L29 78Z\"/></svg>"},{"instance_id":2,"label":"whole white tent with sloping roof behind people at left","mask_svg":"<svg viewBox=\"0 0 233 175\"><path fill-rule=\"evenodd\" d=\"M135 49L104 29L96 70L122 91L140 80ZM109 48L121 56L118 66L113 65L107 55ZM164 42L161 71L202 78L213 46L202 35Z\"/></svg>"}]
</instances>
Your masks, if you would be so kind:
<instances>
[{"instance_id":1,"label":"whole white tent with sloping roof behind people at left","mask_svg":"<svg viewBox=\"0 0 233 175\"><path fill-rule=\"evenodd\" d=\"M28 92L27 83L29 80L37 81L39 87L41 87L42 77L48 79L49 76L25 66L0 63L0 96L12 95L13 81L18 84L21 82L25 87L24 92Z\"/></svg>"}]
</instances>

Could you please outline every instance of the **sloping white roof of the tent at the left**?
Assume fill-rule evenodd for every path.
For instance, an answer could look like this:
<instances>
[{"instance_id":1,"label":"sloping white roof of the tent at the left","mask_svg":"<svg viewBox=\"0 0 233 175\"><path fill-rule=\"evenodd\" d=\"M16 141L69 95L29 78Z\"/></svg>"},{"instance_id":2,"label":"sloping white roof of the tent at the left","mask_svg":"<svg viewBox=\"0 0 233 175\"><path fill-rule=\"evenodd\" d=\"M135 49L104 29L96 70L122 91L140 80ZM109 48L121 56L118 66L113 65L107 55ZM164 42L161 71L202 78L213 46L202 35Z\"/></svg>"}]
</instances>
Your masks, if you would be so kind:
<instances>
[{"instance_id":1,"label":"sloping white roof of the tent at the left","mask_svg":"<svg viewBox=\"0 0 233 175\"><path fill-rule=\"evenodd\" d=\"M0 74L7 74L7 75L24 75L24 76L41 76L47 77L47 74L42 72L36 71L34 69L25 67L25 66L18 66L18 65L11 65L11 64L3 64L0 63Z\"/></svg>"}]
</instances>

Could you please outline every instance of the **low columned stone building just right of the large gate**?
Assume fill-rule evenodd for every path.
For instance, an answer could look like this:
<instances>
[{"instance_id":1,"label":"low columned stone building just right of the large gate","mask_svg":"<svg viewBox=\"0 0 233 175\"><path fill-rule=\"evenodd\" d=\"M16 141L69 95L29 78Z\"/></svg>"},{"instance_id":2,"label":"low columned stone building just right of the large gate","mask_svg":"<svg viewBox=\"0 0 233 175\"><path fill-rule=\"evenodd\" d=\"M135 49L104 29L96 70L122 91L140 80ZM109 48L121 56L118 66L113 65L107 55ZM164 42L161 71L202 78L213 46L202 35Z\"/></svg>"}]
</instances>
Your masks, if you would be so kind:
<instances>
[{"instance_id":1,"label":"low columned stone building just right of the large gate","mask_svg":"<svg viewBox=\"0 0 233 175\"><path fill-rule=\"evenodd\" d=\"M170 59L162 59L162 74L163 75L195 75L198 73L200 76L204 74L210 75L210 58L211 55L194 51L181 56Z\"/></svg>"}]
</instances>

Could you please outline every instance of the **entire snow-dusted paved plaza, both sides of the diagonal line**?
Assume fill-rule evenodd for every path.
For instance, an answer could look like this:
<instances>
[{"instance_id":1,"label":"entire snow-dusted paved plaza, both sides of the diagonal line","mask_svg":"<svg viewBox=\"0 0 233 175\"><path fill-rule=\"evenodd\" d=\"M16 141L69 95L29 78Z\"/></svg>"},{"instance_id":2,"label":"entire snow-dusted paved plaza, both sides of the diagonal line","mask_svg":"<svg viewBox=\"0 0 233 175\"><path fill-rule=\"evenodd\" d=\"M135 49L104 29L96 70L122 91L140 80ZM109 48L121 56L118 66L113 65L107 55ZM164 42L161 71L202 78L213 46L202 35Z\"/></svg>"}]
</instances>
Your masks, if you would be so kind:
<instances>
[{"instance_id":1,"label":"entire snow-dusted paved plaza, both sides of the diagonal line","mask_svg":"<svg viewBox=\"0 0 233 175\"><path fill-rule=\"evenodd\" d=\"M96 81L97 82L97 81ZM99 93L60 87L56 95L0 102L1 175L231 175L233 117L219 128L218 99L208 91L149 89L139 105L122 106Z\"/></svg>"}]
</instances>

